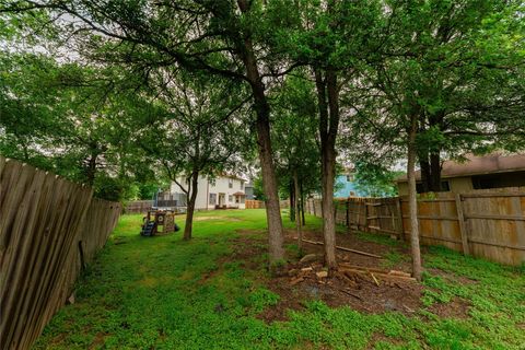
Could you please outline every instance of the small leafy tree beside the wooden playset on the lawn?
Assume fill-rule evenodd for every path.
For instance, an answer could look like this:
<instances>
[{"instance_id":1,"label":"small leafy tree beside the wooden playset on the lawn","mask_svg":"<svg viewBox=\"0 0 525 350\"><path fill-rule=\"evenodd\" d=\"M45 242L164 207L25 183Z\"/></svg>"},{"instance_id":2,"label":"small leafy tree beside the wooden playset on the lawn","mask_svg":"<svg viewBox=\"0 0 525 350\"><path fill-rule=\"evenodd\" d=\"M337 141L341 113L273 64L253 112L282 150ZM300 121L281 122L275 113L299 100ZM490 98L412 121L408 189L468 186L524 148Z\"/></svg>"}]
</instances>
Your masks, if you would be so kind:
<instances>
[{"instance_id":1,"label":"small leafy tree beside the wooden playset on the lawn","mask_svg":"<svg viewBox=\"0 0 525 350\"><path fill-rule=\"evenodd\" d=\"M246 98L241 98L241 91L233 93L235 85L228 81L183 71L150 79L149 94L156 100L137 138L186 195L184 240L190 240L199 177L213 177L238 164L245 147L241 112L246 114ZM230 95L224 98L226 91Z\"/></svg>"}]
</instances>

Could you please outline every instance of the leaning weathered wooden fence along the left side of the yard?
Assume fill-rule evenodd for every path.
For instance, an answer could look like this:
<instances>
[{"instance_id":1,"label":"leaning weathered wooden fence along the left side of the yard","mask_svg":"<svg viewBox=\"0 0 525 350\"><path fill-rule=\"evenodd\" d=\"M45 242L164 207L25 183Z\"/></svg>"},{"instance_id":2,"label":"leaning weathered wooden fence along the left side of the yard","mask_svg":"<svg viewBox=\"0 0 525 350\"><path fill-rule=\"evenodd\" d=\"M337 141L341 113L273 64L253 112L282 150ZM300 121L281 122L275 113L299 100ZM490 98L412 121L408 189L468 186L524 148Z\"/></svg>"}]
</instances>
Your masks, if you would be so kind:
<instances>
[{"instance_id":1,"label":"leaning weathered wooden fence along the left side of the yard","mask_svg":"<svg viewBox=\"0 0 525 350\"><path fill-rule=\"evenodd\" d=\"M28 349L104 246L121 207L0 156L0 349Z\"/></svg>"}]
</instances>

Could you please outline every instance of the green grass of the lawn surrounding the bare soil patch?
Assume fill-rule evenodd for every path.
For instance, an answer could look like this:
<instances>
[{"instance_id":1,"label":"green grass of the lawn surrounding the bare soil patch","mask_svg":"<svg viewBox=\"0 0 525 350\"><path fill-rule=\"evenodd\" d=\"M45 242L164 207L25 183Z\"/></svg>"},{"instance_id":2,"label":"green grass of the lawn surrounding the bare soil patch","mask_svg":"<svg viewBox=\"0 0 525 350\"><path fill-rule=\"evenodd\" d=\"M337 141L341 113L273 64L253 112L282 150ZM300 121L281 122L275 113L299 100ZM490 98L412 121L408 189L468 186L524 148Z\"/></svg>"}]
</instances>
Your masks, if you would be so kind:
<instances>
[{"instance_id":1,"label":"green grass of the lawn surrounding the bare soil patch","mask_svg":"<svg viewBox=\"0 0 525 350\"><path fill-rule=\"evenodd\" d=\"M412 317L369 315L310 301L304 311L289 312L289 320L266 324L256 315L279 302L279 295L265 288L266 270L244 269L243 261L228 258L238 244L236 230L259 230L244 236L265 245L265 211L217 211L199 217L220 218L196 221L191 242L183 242L180 232L141 237L141 217L122 217L106 247L79 280L75 304L52 318L35 348L525 348L523 269L463 257L445 248L430 248L423 257L427 268L447 273L425 273L425 306ZM308 230L319 226L318 219L307 220ZM289 220L284 224L292 226ZM397 243L388 240L375 242L394 249ZM295 245L285 248L296 254ZM402 259L395 250L387 256L392 264ZM471 304L467 318L432 314L434 304L455 298Z\"/></svg>"}]
</instances>

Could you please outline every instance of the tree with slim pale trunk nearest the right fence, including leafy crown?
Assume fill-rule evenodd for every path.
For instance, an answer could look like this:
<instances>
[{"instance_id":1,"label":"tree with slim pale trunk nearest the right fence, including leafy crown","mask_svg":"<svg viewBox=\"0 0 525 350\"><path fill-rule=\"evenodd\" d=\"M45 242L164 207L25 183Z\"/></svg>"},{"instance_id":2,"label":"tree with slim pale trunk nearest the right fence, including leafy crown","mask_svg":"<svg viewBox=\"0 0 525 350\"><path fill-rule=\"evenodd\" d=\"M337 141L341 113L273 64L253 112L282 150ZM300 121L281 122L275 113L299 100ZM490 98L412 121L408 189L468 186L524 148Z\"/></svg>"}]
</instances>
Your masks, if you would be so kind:
<instances>
[{"instance_id":1,"label":"tree with slim pale trunk nearest the right fence, including leafy crown","mask_svg":"<svg viewBox=\"0 0 525 350\"><path fill-rule=\"evenodd\" d=\"M448 151L455 148L464 151L479 144L474 138L468 142L464 137L447 139L446 130L453 130L455 126L464 131L502 126L497 119L481 121L472 118L472 114L466 110L478 110L482 115L481 106L486 103L483 98L478 98L483 93L478 94L477 90L487 91L481 86L491 81L489 77L499 77L504 71L501 65L505 59L495 54L491 40L498 37L497 42L503 44L501 39L505 35L500 32L489 39L486 31L494 25L493 21L508 23L509 12L500 1L476 0L462 3L393 1L387 9L385 30L381 34L383 44L377 50L377 58L370 62L373 67L369 70L370 84L363 80L361 89L368 90L370 97L358 109L360 114L375 109L372 112L375 120L369 124L372 133L378 138L386 137L385 140L389 139L406 151L412 269L415 277L420 279L416 163L418 156L427 162L431 153L439 160L436 155L444 144L447 144ZM516 62L515 59L512 61ZM500 69L494 70L495 67ZM488 90L494 91L491 88ZM429 124L434 119L439 127ZM434 162L434 167L436 173L441 172L441 164Z\"/></svg>"}]
</instances>

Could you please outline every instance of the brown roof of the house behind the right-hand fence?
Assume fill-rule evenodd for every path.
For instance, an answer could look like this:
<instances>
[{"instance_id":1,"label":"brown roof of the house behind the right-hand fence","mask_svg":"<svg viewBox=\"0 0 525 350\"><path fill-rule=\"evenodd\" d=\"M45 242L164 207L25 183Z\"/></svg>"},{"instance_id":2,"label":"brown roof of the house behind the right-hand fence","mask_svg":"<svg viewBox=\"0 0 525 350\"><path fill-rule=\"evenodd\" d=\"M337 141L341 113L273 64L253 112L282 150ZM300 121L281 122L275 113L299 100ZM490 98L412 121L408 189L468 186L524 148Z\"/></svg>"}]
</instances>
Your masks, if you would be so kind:
<instances>
[{"instance_id":1,"label":"brown roof of the house behind the right-hand fence","mask_svg":"<svg viewBox=\"0 0 525 350\"><path fill-rule=\"evenodd\" d=\"M462 177L525 171L525 154L504 155L492 153L483 156L468 154L467 162L445 161L442 166L441 177ZM416 179L421 179L421 172L416 172ZM407 175L397 178L398 183L407 182Z\"/></svg>"}]
</instances>

